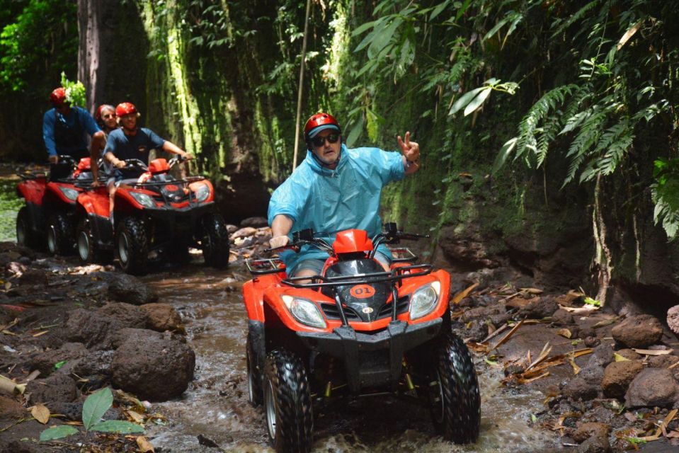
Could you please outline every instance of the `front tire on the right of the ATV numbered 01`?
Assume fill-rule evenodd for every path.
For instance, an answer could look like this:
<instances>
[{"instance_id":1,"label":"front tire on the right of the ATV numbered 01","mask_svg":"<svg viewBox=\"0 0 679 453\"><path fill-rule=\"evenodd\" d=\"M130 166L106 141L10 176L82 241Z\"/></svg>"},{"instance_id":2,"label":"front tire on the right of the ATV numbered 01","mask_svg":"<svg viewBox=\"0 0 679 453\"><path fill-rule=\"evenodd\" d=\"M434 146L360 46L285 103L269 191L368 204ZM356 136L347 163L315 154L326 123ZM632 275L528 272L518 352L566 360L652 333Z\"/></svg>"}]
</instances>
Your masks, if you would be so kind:
<instances>
[{"instance_id":1,"label":"front tire on the right of the ATV numbered 01","mask_svg":"<svg viewBox=\"0 0 679 453\"><path fill-rule=\"evenodd\" d=\"M476 442L481 424L481 393L467 346L447 333L436 350L427 379L428 406L436 430L457 444Z\"/></svg>"}]
</instances>

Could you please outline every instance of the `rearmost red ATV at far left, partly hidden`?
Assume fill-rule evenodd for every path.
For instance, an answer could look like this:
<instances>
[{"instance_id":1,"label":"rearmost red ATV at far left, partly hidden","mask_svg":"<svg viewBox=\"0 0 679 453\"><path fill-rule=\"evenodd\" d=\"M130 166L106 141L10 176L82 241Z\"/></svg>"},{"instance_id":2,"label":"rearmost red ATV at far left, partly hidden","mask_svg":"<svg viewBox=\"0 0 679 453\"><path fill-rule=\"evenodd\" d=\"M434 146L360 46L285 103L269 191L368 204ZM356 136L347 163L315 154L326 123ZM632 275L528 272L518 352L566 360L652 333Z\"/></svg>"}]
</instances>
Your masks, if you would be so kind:
<instances>
[{"instance_id":1,"label":"rearmost red ATV at far left, partly hidden","mask_svg":"<svg viewBox=\"0 0 679 453\"><path fill-rule=\"evenodd\" d=\"M16 217L16 240L42 248L52 255L66 255L74 248L76 199L92 183L90 158L77 163L72 156L59 156L59 164L73 168L68 178L48 181L45 173L22 174L16 192L25 200Z\"/></svg>"}]
</instances>

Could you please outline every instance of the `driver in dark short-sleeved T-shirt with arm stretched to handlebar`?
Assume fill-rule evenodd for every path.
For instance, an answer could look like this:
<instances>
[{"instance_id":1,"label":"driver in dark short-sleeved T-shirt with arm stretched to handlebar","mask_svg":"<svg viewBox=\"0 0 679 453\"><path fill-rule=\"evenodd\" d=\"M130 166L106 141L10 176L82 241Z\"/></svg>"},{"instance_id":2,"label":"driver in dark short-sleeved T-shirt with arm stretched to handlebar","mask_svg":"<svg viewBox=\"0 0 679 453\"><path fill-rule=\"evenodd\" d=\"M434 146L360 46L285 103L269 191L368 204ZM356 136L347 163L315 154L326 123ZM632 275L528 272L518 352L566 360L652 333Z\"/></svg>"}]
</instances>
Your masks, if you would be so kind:
<instances>
[{"instance_id":1,"label":"driver in dark short-sleeved T-shirt with arm stretched to handlebar","mask_svg":"<svg viewBox=\"0 0 679 453\"><path fill-rule=\"evenodd\" d=\"M135 168L126 168L126 159L139 159L144 164L149 164L149 152L152 149L162 149L170 154L178 154L182 159L193 159L193 156L176 144L162 139L155 132L146 127L137 127L139 112L134 104L129 102L120 103L115 107L115 115L118 117L120 128L108 134L104 161L113 166L113 173L108 180L108 195L110 197L110 218L113 224L113 196L115 188L122 180L139 177L139 171Z\"/></svg>"}]
</instances>

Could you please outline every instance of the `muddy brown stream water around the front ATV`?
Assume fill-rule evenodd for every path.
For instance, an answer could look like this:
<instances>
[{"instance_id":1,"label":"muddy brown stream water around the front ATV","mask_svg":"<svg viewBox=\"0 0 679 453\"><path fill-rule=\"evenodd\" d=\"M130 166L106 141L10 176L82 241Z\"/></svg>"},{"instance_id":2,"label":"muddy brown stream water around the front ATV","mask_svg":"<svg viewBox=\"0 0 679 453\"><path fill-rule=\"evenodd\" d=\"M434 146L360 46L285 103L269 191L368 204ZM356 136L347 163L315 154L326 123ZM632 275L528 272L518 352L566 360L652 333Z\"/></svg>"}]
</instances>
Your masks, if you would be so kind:
<instances>
[{"instance_id":1,"label":"muddy brown stream water around the front ATV","mask_svg":"<svg viewBox=\"0 0 679 453\"><path fill-rule=\"evenodd\" d=\"M144 280L173 304L186 321L196 353L193 385L178 401L159 407L171 418L169 430L153 440L163 452L270 452L261 409L247 398L244 348L246 314L239 283L246 271L206 270L200 258L187 268ZM435 435L428 413L415 401L365 398L320 413L314 452L540 452L556 437L529 427L542 411L542 394L513 394L499 385L501 372L475 358L481 385L481 437L475 445L452 445ZM207 438L207 439L206 439ZM213 445L214 445L213 444Z\"/></svg>"}]
</instances>

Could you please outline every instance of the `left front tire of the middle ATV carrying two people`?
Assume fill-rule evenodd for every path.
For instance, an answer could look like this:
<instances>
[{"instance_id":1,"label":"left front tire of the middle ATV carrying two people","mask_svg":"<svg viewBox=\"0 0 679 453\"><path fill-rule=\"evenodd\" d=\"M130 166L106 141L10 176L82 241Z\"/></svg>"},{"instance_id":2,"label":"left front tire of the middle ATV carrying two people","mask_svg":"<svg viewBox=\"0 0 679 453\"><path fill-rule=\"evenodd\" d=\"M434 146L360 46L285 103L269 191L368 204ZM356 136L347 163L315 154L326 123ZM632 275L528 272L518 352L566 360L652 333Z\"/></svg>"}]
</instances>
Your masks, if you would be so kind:
<instances>
[{"instance_id":1,"label":"left front tire of the middle ATV carrying two people","mask_svg":"<svg viewBox=\"0 0 679 453\"><path fill-rule=\"evenodd\" d=\"M115 254L120 268L127 274L145 273L149 258L149 241L144 222L135 217L127 217L118 224L116 230Z\"/></svg>"}]
</instances>

